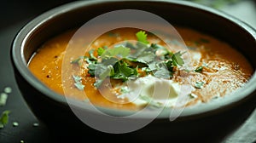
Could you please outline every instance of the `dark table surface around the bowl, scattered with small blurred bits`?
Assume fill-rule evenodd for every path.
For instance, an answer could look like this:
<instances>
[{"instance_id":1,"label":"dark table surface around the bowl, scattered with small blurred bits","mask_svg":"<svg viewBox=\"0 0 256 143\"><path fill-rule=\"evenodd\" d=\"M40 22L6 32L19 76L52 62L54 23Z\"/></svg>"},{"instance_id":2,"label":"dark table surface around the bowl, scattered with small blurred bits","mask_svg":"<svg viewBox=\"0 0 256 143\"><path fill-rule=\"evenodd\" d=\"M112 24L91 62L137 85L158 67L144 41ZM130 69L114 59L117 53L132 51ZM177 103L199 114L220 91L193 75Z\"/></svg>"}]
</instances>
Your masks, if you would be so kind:
<instances>
[{"instance_id":1,"label":"dark table surface around the bowl, scattered with small blurred bits","mask_svg":"<svg viewBox=\"0 0 256 143\"><path fill-rule=\"evenodd\" d=\"M38 121L22 98L15 83L15 76L10 62L9 50L15 34L20 28L38 14L44 13L68 0L44 0L44 1L8 1L1 3L0 14L0 94L4 93L6 87L10 87L12 92L9 94L7 104L0 106L0 112L9 110L9 123L5 128L0 129L0 143L24 142L52 142L53 136L49 134L49 128ZM230 8L228 8L230 9ZM255 12L255 11L254 11ZM252 14L255 15L256 13ZM254 26L255 27L255 26ZM13 123L19 126L13 126ZM39 126L34 126L39 123ZM253 142L256 140L256 112L253 112L247 122L241 128L234 131L223 140L223 142Z\"/></svg>"}]
</instances>

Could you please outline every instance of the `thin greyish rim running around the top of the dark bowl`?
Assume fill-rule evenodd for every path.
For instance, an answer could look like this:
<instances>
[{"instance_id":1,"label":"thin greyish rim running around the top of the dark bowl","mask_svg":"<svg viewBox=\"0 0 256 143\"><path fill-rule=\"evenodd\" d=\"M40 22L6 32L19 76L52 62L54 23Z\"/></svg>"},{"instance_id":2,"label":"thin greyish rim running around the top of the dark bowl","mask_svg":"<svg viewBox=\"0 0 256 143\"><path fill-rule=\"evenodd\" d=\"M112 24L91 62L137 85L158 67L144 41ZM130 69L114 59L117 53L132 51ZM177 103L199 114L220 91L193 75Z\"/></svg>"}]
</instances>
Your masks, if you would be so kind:
<instances>
[{"instance_id":1,"label":"thin greyish rim running around the top of the dark bowl","mask_svg":"<svg viewBox=\"0 0 256 143\"><path fill-rule=\"evenodd\" d=\"M136 3L146 3L147 1L144 0L129 0L129 1L123 1L125 3L130 2L136 2ZM175 1L175 0L160 0L160 1L154 1L149 0L148 2L153 3L172 3L177 4L180 6L188 7L189 9L200 9L201 11L211 13L213 15L217 15L218 17L221 17L224 20L229 20L232 23L236 24L236 26L239 26L241 29L247 31L256 41L256 31L253 29L253 27L248 26L246 23L242 22L241 20L236 19L235 17L231 16L230 14L225 14L222 11L219 11L218 9L212 9L210 7L197 4L197 3L191 3L187 1ZM44 25L45 22L55 19L58 15L66 14L68 11L71 11L73 9L79 9L84 6L88 7L90 5L94 5L97 3L122 3L118 0L112 0L112 1L79 1L79 2L73 2L73 3L67 3L64 5L61 5L59 7L56 7L54 9L50 9L49 11L45 12L44 14L40 14L35 19L31 20L26 26L22 27L18 34L16 35L11 49L11 60L13 61L13 66L15 69L17 69L18 72L20 72L20 75L26 79L27 83L30 83L33 88L37 89L39 92L44 94L47 98L50 100L55 101L57 104L61 104L61 106L68 106L67 105L67 99L63 97L61 94L56 94L51 89L46 87L43 83L41 83L38 78L34 77L32 75L32 72L29 71L29 69L26 66L26 60L24 57L23 50L24 45L26 42L26 39L30 37L38 27ZM247 96L253 94L255 92L256 86L254 85L256 83L256 75L255 72L253 72L253 76L248 81L245 88L242 89L242 93L237 94L236 98L235 96L232 96L232 98L223 98L221 101L218 102L209 102L207 105L200 105L195 106L196 109L193 107L187 107L183 110L180 117L193 117L197 115L202 114L208 114L209 112L219 112L224 110L225 108L228 109L229 107L236 106L236 104L240 103L241 100L244 100L247 98ZM100 107L102 111L104 112L110 112L110 114L113 115L125 115L125 111L119 111L115 109L108 109L104 107ZM131 114L131 112L127 112L128 115ZM164 110L161 112L160 116L158 118L165 118L169 117L170 111Z\"/></svg>"}]
</instances>

